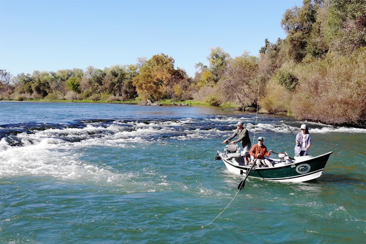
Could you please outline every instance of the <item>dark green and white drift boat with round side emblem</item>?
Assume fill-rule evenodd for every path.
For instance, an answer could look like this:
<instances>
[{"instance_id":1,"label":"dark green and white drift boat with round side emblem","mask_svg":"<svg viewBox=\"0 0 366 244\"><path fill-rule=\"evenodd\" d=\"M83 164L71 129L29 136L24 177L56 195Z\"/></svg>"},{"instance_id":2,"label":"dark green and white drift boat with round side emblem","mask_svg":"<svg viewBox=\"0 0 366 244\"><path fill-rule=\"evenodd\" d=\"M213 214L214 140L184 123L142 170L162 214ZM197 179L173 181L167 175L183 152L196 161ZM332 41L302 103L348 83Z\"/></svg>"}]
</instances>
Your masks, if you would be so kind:
<instances>
[{"instance_id":1,"label":"dark green and white drift boat with round side emblem","mask_svg":"<svg viewBox=\"0 0 366 244\"><path fill-rule=\"evenodd\" d=\"M233 148L232 146L235 146ZM225 153L218 151L215 160L222 159L232 173L242 175L252 165L245 165L244 154L237 145L228 145ZM286 152L278 153L278 159L270 158L274 167L257 168L250 171L249 176L279 182L305 182L321 176L325 164L332 151L313 157L310 155L291 158ZM252 162L251 162L252 163Z\"/></svg>"}]
</instances>

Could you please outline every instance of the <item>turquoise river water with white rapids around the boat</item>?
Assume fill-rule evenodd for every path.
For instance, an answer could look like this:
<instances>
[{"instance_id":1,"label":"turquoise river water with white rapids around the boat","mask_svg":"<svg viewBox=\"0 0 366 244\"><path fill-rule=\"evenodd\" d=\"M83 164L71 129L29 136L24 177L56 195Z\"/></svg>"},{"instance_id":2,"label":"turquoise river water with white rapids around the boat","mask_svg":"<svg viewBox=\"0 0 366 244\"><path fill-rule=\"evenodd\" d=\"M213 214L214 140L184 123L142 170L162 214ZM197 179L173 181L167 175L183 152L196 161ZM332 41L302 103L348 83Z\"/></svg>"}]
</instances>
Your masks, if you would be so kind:
<instances>
[{"instance_id":1,"label":"turquoise river water with white rapids around the boat","mask_svg":"<svg viewBox=\"0 0 366 244\"><path fill-rule=\"evenodd\" d=\"M293 156L278 116L0 102L0 243L365 243L366 130L308 122L310 153L333 151L323 175L249 178L202 229L242 179L214 161L238 120Z\"/></svg>"}]
</instances>

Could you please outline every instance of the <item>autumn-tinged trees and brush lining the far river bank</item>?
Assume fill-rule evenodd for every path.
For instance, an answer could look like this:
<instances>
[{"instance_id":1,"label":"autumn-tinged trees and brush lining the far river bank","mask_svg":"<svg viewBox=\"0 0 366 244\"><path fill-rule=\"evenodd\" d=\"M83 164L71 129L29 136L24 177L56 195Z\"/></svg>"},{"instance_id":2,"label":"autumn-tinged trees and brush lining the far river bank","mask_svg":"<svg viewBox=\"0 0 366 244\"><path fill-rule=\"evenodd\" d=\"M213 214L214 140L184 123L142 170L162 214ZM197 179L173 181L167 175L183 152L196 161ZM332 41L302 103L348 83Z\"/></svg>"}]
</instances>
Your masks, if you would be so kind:
<instances>
[{"instance_id":1,"label":"autumn-tinged trees and brush lining the far river bank","mask_svg":"<svg viewBox=\"0 0 366 244\"><path fill-rule=\"evenodd\" d=\"M287 37L266 39L257 57L211 49L209 65L197 63L194 77L163 53L103 70L90 66L15 77L0 70L0 99L169 98L256 107L259 92L258 105L269 113L365 126L366 0L304 0L286 10L281 26Z\"/></svg>"}]
</instances>

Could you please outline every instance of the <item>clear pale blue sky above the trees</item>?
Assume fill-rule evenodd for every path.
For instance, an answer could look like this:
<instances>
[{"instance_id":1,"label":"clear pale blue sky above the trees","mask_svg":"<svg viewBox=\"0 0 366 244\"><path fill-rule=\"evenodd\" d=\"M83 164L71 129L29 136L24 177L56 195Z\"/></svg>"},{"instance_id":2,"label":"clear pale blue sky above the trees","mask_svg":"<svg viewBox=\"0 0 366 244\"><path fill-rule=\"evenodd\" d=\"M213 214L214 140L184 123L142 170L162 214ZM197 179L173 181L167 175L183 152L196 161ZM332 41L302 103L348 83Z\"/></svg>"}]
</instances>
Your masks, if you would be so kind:
<instances>
[{"instance_id":1,"label":"clear pale blue sky above the trees","mask_svg":"<svg viewBox=\"0 0 366 244\"><path fill-rule=\"evenodd\" d=\"M258 55L285 38L285 10L302 0L0 0L0 69L13 75L135 64L165 53L190 76L210 48Z\"/></svg>"}]
</instances>

